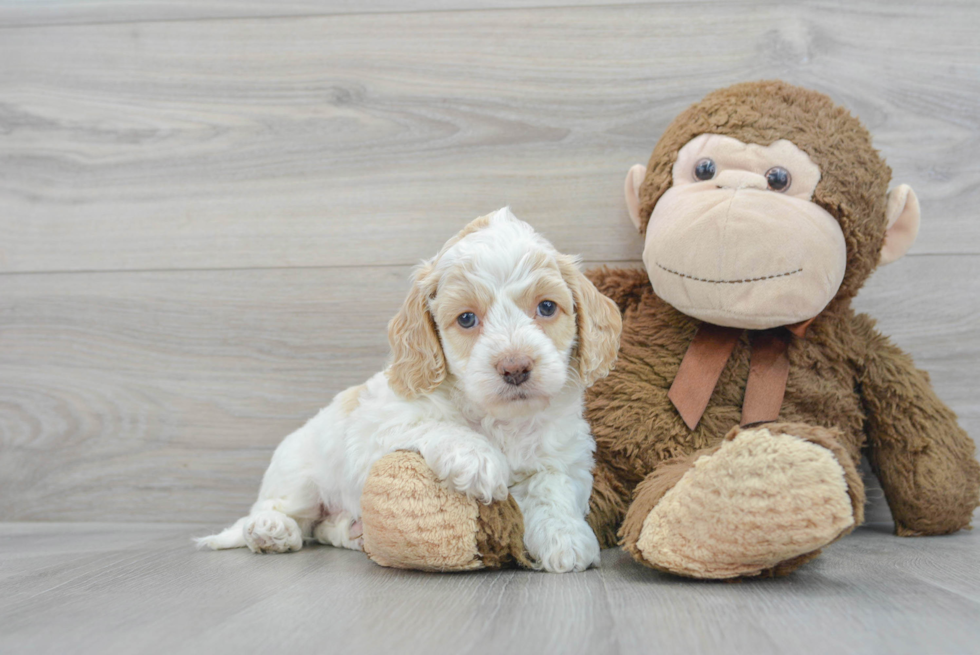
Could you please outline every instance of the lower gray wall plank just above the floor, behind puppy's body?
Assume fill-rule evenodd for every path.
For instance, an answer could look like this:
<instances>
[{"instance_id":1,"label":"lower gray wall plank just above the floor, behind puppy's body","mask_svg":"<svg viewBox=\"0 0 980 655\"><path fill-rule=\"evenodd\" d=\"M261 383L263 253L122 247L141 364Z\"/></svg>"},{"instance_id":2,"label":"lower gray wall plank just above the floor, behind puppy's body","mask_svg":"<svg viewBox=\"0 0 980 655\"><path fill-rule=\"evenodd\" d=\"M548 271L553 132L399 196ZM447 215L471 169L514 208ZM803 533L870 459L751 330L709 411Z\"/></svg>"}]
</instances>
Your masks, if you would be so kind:
<instances>
[{"instance_id":1,"label":"lower gray wall plank just above the floor, behind puppy's body","mask_svg":"<svg viewBox=\"0 0 980 655\"><path fill-rule=\"evenodd\" d=\"M0 518L237 518L279 441L381 369L408 274L0 276ZM858 303L974 435L977 297L980 257L910 257Z\"/></svg>"}]
</instances>

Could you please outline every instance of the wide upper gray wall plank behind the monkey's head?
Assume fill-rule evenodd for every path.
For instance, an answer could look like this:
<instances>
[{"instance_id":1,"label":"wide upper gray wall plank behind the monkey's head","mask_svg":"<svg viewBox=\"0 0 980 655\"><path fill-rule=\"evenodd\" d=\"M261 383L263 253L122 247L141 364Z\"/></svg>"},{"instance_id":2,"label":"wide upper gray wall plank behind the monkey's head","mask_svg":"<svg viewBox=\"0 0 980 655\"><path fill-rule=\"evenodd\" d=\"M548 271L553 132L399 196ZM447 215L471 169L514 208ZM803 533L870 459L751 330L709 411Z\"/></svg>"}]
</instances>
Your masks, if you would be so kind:
<instances>
[{"instance_id":1,"label":"wide upper gray wall plank behind the monkey's head","mask_svg":"<svg viewBox=\"0 0 980 655\"><path fill-rule=\"evenodd\" d=\"M862 117L922 200L914 252L975 254L978 26L976 3L879 1L5 30L0 271L408 264L508 203L635 259L627 168L764 77Z\"/></svg>"}]
</instances>

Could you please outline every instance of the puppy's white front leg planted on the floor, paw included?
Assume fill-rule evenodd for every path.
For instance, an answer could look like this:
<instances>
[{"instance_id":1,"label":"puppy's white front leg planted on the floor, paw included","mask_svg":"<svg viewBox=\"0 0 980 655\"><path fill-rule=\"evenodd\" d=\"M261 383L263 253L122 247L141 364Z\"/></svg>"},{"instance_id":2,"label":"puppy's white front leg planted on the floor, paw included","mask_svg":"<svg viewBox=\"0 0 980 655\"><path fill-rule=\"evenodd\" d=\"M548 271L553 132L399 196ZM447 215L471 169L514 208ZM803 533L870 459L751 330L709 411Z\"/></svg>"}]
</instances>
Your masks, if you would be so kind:
<instances>
[{"instance_id":1,"label":"puppy's white front leg planted on the floor, paw included","mask_svg":"<svg viewBox=\"0 0 980 655\"><path fill-rule=\"evenodd\" d=\"M584 571L599 564L599 540L585 520L592 475L540 471L511 489L524 513L524 546L538 568Z\"/></svg>"}]
</instances>

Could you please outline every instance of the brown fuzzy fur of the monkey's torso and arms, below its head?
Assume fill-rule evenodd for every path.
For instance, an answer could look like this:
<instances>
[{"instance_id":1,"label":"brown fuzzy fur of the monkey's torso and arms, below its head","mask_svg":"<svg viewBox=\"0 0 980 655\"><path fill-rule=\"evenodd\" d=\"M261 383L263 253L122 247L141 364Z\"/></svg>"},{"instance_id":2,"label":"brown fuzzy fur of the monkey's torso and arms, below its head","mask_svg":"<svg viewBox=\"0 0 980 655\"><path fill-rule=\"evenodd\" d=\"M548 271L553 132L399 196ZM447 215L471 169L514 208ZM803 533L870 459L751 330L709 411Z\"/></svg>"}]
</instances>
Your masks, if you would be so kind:
<instances>
[{"instance_id":1,"label":"brown fuzzy fur of the monkey's torso and arms, below its head","mask_svg":"<svg viewBox=\"0 0 980 655\"><path fill-rule=\"evenodd\" d=\"M743 335L701 422L689 430L667 390L700 322L657 298L643 270L603 268L590 276L624 314L616 368L587 400L597 441L589 521L608 547L640 481L672 458L717 446L738 424L750 353ZM867 453L898 534L944 534L969 524L980 498L973 442L936 397L928 375L881 336L872 319L837 303L806 339L791 342L789 359L780 420L837 428L852 462ZM629 529L624 536L628 542Z\"/></svg>"}]
</instances>

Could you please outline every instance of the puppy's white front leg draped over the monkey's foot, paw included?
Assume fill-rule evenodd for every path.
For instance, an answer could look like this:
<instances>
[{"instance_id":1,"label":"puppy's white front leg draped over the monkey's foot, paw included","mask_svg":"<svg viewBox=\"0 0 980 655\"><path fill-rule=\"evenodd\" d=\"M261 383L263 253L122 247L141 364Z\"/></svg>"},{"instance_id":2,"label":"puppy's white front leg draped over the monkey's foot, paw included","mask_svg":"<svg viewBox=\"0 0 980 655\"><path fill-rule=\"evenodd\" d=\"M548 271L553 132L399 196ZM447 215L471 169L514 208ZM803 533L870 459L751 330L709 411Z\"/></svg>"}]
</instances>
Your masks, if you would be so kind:
<instances>
[{"instance_id":1,"label":"puppy's white front leg draped over the monkey's foot, paw included","mask_svg":"<svg viewBox=\"0 0 980 655\"><path fill-rule=\"evenodd\" d=\"M450 489L485 505L507 499L507 458L486 437L444 421L427 421L411 432L412 448Z\"/></svg>"}]
</instances>

